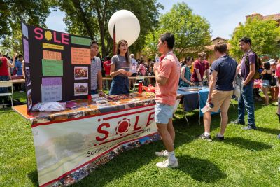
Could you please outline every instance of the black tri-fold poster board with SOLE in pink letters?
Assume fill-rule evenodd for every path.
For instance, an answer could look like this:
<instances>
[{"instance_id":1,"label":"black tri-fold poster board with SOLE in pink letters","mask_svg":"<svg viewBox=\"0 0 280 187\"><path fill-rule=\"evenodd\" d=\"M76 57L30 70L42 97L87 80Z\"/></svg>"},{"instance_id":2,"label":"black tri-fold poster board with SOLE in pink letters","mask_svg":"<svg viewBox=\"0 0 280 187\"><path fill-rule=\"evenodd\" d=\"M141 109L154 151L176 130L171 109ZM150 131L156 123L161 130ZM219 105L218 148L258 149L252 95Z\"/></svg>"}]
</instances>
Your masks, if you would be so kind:
<instances>
[{"instance_id":1,"label":"black tri-fold poster board with SOLE in pink letters","mask_svg":"<svg viewBox=\"0 0 280 187\"><path fill-rule=\"evenodd\" d=\"M90 38L22 22L27 110L38 102L86 99L90 94Z\"/></svg>"}]
</instances>

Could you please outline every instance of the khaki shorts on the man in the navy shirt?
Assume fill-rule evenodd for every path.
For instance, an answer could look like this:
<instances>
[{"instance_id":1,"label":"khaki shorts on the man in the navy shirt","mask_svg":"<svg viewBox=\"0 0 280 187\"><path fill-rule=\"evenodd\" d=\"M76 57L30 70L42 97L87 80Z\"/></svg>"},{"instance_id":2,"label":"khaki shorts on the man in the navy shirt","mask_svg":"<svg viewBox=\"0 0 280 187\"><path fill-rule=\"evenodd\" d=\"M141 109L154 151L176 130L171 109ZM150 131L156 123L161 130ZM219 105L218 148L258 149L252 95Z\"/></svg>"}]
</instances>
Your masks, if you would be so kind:
<instances>
[{"instance_id":1,"label":"khaki shorts on the man in the navy shirt","mask_svg":"<svg viewBox=\"0 0 280 187\"><path fill-rule=\"evenodd\" d=\"M212 92L212 103L214 104L213 109L209 111L218 112L218 109L221 109L221 112L228 112L230 107L230 99L232 99L232 91L219 91L213 90Z\"/></svg>"}]
</instances>

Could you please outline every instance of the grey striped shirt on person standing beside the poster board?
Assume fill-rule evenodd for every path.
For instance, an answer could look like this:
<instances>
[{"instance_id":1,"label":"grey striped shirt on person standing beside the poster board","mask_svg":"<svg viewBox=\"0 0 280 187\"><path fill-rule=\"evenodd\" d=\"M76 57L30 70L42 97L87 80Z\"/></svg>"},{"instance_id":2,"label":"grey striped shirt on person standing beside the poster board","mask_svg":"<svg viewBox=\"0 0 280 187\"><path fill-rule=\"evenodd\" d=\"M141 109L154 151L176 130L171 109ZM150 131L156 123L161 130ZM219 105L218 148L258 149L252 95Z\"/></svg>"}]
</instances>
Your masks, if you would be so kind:
<instances>
[{"instance_id":1,"label":"grey striped shirt on person standing beside the poster board","mask_svg":"<svg viewBox=\"0 0 280 187\"><path fill-rule=\"evenodd\" d=\"M97 89L97 74L102 71L101 60L99 57L94 57L90 64L90 90Z\"/></svg>"}]
</instances>

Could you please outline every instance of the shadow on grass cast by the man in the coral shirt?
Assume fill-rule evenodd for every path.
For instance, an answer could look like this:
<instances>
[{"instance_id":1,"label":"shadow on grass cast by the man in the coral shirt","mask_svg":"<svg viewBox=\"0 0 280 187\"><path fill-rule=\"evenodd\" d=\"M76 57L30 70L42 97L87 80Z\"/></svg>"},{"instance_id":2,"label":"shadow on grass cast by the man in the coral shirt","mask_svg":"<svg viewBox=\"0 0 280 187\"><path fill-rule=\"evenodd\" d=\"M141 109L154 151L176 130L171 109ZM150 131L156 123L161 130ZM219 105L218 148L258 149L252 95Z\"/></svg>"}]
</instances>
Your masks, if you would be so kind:
<instances>
[{"instance_id":1,"label":"shadow on grass cast by the man in the coral shirt","mask_svg":"<svg viewBox=\"0 0 280 187\"><path fill-rule=\"evenodd\" d=\"M178 169L190 174L196 181L214 183L227 177L217 165L208 160L193 158L188 155L178 156L177 158L180 164Z\"/></svg>"}]
</instances>

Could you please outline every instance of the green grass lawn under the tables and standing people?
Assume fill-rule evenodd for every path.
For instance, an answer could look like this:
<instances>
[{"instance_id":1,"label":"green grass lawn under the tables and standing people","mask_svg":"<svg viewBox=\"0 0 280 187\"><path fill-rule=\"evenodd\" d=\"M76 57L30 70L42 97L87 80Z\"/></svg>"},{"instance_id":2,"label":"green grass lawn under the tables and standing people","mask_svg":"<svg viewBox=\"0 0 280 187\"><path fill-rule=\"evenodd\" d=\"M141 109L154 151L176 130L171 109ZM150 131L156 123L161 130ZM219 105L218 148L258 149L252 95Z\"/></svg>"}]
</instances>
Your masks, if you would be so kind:
<instances>
[{"instance_id":1,"label":"green grass lawn under the tables and standing people","mask_svg":"<svg viewBox=\"0 0 280 187\"><path fill-rule=\"evenodd\" d=\"M17 93L25 100L25 94ZM235 102L235 106L237 103ZM162 141L118 155L73 186L279 186L280 133L276 106L255 104L258 130L244 131L228 125L225 141L197 139L204 132L197 113L189 113L186 128L181 111L174 119L178 169L155 167L154 155ZM229 121L237 118L232 106ZM220 117L212 117L211 135L219 130ZM38 186L31 126L10 109L0 111L0 186Z\"/></svg>"}]
</instances>

